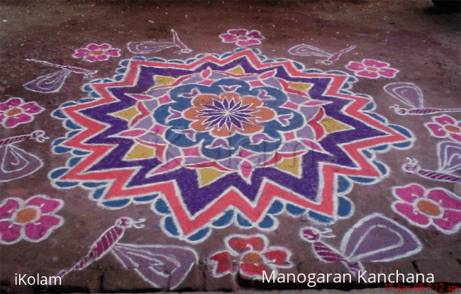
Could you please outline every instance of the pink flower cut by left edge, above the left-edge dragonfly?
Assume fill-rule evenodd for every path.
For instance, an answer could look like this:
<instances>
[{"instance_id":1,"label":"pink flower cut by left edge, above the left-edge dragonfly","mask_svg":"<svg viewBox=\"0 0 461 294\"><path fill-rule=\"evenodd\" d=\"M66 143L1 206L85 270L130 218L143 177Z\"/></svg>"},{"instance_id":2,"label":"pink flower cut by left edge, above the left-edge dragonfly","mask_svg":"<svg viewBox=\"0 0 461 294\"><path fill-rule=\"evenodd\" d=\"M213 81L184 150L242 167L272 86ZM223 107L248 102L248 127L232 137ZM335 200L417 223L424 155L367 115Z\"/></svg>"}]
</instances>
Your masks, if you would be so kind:
<instances>
[{"instance_id":1,"label":"pink flower cut by left edge, above the left-edge dragonfly","mask_svg":"<svg viewBox=\"0 0 461 294\"><path fill-rule=\"evenodd\" d=\"M22 98L10 98L0 103L0 123L4 128L14 128L21 123L31 122L35 115L44 110L35 102L24 103Z\"/></svg>"}]
</instances>

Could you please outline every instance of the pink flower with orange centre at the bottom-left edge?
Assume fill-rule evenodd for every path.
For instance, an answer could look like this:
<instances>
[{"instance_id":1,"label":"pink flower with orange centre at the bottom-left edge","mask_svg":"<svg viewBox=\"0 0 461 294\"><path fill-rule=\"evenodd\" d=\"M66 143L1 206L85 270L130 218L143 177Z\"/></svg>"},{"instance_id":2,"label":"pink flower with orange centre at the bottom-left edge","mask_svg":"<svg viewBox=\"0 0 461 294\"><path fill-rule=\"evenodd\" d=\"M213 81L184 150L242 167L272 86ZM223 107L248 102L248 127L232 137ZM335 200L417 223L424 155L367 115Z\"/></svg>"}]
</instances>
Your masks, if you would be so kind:
<instances>
[{"instance_id":1,"label":"pink flower with orange centre at the bottom-left edge","mask_svg":"<svg viewBox=\"0 0 461 294\"><path fill-rule=\"evenodd\" d=\"M0 203L0 244L14 244L22 239L40 242L60 227L64 220L55 215L64 201L38 195L26 202L6 198Z\"/></svg>"}]
</instances>

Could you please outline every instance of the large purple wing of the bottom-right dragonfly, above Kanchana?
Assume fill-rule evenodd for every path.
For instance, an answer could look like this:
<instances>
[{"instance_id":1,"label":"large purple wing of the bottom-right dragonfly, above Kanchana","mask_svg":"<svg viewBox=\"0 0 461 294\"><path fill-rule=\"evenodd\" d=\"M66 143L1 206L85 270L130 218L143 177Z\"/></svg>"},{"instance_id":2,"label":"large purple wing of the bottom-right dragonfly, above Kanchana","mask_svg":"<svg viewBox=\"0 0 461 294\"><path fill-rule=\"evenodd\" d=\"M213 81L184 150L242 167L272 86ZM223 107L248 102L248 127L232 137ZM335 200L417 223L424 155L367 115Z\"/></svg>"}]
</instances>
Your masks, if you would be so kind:
<instances>
[{"instance_id":1,"label":"large purple wing of the bottom-right dragonfly, above Kanchana","mask_svg":"<svg viewBox=\"0 0 461 294\"><path fill-rule=\"evenodd\" d=\"M421 248L413 232L379 213L359 220L341 242L341 251L350 261L392 261Z\"/></svg>"}]
</instances>

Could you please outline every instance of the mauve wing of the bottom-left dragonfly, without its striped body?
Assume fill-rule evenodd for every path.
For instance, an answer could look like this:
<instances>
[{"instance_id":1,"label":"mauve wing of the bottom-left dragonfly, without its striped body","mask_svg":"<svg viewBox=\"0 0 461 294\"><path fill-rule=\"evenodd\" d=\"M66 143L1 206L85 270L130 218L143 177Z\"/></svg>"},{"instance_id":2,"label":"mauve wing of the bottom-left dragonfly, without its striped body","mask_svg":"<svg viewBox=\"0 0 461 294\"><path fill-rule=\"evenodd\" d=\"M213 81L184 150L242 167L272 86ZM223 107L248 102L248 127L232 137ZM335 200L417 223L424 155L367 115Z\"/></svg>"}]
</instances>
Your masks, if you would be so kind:
<instances>
[{"instance_id":1,"label":"mauve wing of the bottom-left dragonfly, without its striped body","mask_svg":"<svg viewBox=\"0 0 461 294\"><path fill-rule=\"evenodd\" d=\"M177 287L198 260L193 249L174 245L116 244L112 252L123 266L157 288Z\"/></svg>"}]
</instances>

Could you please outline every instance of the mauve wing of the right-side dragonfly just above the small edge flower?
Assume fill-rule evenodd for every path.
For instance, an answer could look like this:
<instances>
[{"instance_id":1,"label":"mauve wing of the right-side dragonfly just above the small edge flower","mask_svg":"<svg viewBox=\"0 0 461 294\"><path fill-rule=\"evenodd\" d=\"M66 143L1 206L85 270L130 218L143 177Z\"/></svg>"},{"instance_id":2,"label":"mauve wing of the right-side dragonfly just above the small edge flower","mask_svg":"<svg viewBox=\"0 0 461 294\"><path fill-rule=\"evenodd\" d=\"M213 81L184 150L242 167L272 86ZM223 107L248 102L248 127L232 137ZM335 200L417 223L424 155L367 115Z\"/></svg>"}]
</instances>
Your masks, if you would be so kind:
<instances>
[{"instance_id":1,"label":"mauve wing of the right-side dragonfly just above the small edge flower","mask_svg":"<svg viewBox=\"0 0 461 294\"><path fill-rule=\"evenodd\" d=\"M411 83L391 83L384 91L411 108L423 108L423 91Z\"/></svg>"}]
</instances>

